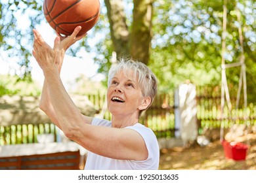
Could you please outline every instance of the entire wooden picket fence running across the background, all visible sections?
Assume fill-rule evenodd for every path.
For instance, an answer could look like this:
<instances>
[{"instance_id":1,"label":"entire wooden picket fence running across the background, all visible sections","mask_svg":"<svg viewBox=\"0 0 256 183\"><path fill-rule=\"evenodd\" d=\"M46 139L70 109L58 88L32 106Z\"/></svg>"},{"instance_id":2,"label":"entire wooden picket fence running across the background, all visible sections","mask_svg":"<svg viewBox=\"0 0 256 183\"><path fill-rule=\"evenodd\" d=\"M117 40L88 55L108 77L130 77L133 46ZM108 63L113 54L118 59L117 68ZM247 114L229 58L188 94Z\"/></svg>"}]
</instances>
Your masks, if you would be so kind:
<instances>
[{"instance_id":1,"label":"entire wooden picket fence running across the background, all visible sections","mask_svg":"<svg viewBox=\"0 0 256 183\"><path fill-rule=\"evenodd\" d=\"M105 96L89 95L88 97L94 103L95 108L102 112ZM250 104L246 109L233 109L231 114L225 106L223 115L221 115L220 87L197 87L196 99L198 133L205 128L219 128L221 127L221 122L223 122L224 127L230 127L234 123L256 125L256 106L253 104ZM234 103L234 98L232 98L232 103ZM173 93L160 94L156 96L152 106L142 113L140 123L152 128L158 138L174 137L174 113ZM104 118L110 120L111 116L108 111L104 112ZM41 133L53 133L56 141L56 128L54 124L0 126L0 145L37 142L37 134Z\"/></svg>"}]
</instances>

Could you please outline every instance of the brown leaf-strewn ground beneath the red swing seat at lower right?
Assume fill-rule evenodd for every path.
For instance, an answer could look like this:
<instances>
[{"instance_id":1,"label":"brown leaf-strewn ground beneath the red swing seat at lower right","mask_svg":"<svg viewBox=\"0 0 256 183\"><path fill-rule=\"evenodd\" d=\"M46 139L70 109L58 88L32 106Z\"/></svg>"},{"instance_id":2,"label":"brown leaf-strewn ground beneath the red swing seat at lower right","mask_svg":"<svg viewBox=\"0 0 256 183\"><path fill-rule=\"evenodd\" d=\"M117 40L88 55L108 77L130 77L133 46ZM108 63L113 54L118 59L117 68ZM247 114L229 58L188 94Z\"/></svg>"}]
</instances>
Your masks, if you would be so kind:
<instances>
[{"instance_id":1,"label":"brown leaf-strewn ground beneath the red swing seat at lower right","mask_svg":"<svg viewBox=\"0 0 256 183\"><path fill-rule=\"evenodd\" d=\"M226 159L220 141L211 142L205 147L198 145L189 148L176 147L161 150L161 170L256 170L256 134L247 135L249 149L245 161Z\"/></svg>"}]
</instances>

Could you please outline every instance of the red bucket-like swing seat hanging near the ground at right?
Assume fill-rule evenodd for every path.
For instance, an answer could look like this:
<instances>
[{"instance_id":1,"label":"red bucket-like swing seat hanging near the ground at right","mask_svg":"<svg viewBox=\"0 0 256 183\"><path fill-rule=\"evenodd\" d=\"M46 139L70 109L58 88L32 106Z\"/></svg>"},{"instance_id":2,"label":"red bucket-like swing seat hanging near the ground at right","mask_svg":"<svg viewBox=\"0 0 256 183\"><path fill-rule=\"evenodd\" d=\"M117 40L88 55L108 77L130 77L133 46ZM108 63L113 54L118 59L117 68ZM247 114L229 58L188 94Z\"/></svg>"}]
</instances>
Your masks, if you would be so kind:
<instances>
[{"instance_id":1,"label":"red bucket-like swing seat hanging near the ground at right","mask_svg":"<svg viewBox=\"0 0 256 183\"><path fill-rule=\"evenodd\" d=\"M226 158L236 161L245 160L248 146L242 142L222 141Z\"/></svg>"}]
</instances>

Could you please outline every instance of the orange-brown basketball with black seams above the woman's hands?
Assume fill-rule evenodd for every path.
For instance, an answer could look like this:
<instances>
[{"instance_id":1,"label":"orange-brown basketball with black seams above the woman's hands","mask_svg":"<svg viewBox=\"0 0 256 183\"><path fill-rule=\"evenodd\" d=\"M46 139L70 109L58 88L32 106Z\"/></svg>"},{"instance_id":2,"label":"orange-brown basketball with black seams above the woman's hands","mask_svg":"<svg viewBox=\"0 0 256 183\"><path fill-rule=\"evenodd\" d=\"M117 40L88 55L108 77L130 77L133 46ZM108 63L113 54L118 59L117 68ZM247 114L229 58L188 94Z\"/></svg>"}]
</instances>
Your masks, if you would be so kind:
<instances>
[{"instance_id":1,"label":"orange-brown basketball with black seams above the woman's hands","mask_svg":"<svg viewBox=\"0 0 256 183\"><path fill-rule=\"evenodd\" d=\"M44 0L43 14L49 25L62 35L71 35L78 25L78 35L89 31L100 16L98 0Z\"/></svg>"}]
</instances>

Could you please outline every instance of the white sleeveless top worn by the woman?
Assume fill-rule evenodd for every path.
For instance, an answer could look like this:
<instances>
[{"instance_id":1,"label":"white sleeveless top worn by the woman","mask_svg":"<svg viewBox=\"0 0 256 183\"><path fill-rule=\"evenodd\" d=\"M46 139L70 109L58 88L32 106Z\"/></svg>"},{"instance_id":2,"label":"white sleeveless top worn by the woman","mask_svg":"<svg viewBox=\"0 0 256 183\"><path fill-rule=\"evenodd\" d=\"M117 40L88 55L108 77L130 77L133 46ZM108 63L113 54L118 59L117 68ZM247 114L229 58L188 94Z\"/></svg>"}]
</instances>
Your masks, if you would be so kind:
<instances>
[{"instance_id":1,"label":"white sleeveless top worn by the woman","mask_svg":"<svg viewBox=\"0 0 256 183\"><path fill-rule=\"evenodd\" d=\"M111 122L108 120L102 120L99 118L94 118L92 125L102 125L106 127L111 127ZM134 160L120 160L106 158L104 156L99 156L93 152L88 152L87 160L85 163L85 170L146 170L152 169L157 170L159 166L160 159L160 149L158 146L158 140L152 129L145 127L142 124L135 124L133 126L125 127L134 129L137 131L146 143L146 148L148 148L148 158L144 161L134 161Z\"/></svg>"}]
</instances>

